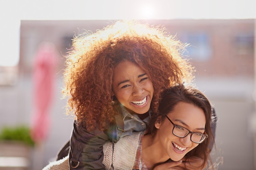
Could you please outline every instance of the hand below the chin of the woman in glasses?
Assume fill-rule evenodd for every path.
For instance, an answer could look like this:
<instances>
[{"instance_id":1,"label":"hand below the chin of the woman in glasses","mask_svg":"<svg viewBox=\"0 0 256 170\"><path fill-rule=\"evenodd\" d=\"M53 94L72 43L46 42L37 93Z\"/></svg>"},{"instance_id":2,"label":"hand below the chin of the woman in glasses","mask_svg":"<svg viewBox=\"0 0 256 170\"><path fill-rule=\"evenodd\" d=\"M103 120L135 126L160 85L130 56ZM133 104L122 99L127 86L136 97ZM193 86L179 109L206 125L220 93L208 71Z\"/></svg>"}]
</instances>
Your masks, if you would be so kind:
<instances>
[{"instance_id":1,"label":"hand below the chin of the woman in glasses","mask_svg":"<svg viewBox=\"0 0 256 170\"><path fill-rule=\"evenodd\" d=\"M182 159L182 163L180 163L177 167L182 168L182 170L203 170L207 163L202 166L203 159L200 157L190 157L189 159ZM174 167L176 168L176 167Z\"/></svg>"}]
</instances>

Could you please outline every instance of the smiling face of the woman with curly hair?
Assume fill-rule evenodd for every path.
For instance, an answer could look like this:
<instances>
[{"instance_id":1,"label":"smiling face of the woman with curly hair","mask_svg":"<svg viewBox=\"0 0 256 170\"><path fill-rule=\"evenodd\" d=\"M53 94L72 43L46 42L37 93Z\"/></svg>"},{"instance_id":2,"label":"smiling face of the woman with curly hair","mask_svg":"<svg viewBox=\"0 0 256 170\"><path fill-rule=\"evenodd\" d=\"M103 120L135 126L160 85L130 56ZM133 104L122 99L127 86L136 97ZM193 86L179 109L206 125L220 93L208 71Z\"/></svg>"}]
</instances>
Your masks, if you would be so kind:
<instances>
[{"instance_id":1,"label":"smiling face of the woman with curly hair","mask_svg":"<svg viewBox=\"0 0 256 170\"><path fill-rule=\"evenodd\" d=\"M154 87L138 65L130 61L119 63L114 70L112 87L117 100L128 110L138 114L149 110Z\"/></svg>"}]
</instances>

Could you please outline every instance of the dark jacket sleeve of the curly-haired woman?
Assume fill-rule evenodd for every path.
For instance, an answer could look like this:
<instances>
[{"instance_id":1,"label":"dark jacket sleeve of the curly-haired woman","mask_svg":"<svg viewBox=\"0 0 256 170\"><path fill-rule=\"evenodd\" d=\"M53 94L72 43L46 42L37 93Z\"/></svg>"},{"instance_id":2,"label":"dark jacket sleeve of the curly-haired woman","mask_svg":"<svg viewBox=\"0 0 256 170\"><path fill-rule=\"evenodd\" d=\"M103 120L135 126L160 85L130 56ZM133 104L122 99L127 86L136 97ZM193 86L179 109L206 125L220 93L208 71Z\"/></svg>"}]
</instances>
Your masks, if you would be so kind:
<instances>
[{"instance_id":1,"label":"dark jacket sleeve of the curly-haired woman","mask_svg":"<svg viewBox=\"0 0 256 170\"><path fill-rule=\"evenodd\" d=\"M105 170L103 144L107 140L108 135L103 131L89 132L74 123L70 138L70 170Z\"/></svg>"}]
</instances>

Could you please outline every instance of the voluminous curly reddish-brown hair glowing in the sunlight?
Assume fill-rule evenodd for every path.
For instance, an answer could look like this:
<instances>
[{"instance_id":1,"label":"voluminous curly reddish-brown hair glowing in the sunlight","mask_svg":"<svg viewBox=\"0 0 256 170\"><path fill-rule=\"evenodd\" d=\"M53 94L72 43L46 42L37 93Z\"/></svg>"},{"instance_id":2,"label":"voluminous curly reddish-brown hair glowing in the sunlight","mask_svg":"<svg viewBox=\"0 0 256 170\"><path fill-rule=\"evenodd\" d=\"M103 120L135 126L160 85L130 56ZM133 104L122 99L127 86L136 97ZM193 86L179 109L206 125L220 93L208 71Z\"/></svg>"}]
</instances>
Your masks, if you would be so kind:
<instances>
[{"instance_id":1,"label":"voluminous curly reddish-brown hair glowing in the sunlight","mask_svg":"<svg viewBox=\"0 0 256 170\"><path fill-rule=\"evenodd\" d=\"M88 130L103 130L113 122L118 114L111 105L113 72L124 60L139 65L152 80L151 108L157 112L164 89L193 81L194 69L182 56L185 47L166 29L137 21L117 21L96 33L74 37L65 56L67 114L72 111Z\"/></svg>"}]
</instances>

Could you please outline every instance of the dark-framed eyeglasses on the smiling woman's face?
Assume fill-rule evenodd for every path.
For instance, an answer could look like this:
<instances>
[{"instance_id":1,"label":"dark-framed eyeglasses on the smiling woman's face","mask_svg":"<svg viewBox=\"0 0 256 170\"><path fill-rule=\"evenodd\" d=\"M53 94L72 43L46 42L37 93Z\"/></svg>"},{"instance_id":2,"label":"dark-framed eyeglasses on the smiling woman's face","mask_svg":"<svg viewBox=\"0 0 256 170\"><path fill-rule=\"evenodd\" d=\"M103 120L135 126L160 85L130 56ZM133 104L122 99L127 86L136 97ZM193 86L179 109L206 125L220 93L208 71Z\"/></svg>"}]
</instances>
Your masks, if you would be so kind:
<instances>
[{"instance_id":1,"label":"dark-framed eyeglasses on the smiling woman's face","mask_svg":"<svg viewBox=\"0 0 256 170\"><path fill-rule=\"evenodd\" d=\"M166 116L166 118L173 124L173 135L175 135L177 137L183 138L183 137L186 137L187 135L189 135L189 133L191 133L190 140L197 144L201 144L208 137L208 135L206 135L206 134L202 134L202 133L198 133L198 132L191 132L191 131L189 131L189 129L186 129L182 126L178 126L178 125L174 124L171 121L171 119L168 118L168 116Z\"/></svg>"}]
</instances>

